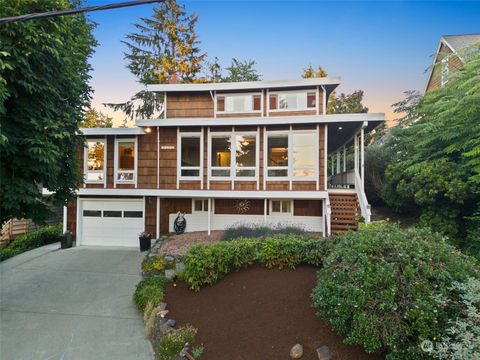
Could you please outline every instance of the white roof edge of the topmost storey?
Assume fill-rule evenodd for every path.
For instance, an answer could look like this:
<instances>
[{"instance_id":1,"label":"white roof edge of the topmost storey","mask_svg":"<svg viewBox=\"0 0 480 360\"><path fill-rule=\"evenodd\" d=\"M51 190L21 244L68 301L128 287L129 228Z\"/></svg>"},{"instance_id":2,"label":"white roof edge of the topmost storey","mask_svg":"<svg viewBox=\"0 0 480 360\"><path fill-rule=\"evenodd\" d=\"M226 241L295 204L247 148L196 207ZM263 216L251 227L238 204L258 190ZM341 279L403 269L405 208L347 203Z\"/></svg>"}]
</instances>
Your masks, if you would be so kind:
<instances>
[{"instance_id":1,"label":"white roof edge of the topmost storey","mask_svg":"<svg viewBox=\"0 0 480 360\"><path fill-rule=\"evenodd\" d=\"M306 88L327 86L329 91L340 84L340 77L323 77L300 80L240 81L224 83L153 84L147 85L153 92L234 91L254 89ZM330 89L331 88L331 89Z\"/></svg>"}]
</instances>

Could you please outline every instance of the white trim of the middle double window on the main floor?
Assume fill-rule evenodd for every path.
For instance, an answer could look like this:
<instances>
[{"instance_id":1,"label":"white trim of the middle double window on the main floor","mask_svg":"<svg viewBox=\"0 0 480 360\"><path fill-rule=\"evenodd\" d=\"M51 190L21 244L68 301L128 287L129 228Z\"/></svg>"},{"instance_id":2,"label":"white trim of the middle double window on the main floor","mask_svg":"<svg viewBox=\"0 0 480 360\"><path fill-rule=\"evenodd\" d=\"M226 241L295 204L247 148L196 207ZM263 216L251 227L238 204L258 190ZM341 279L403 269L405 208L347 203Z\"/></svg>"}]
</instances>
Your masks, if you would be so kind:
<instances>
[{"instance_id":1,"label":"white trim of the middle double window on the main floor","mask_svg":"<svg viewBox=\"0 0 480 360\"><path fill-rule=\"evenodd\" d=\"M236 136L253 136L255 137L255 165L248 167L237 167L237 148L236 148ZM212 139L216 137L229 137L230 138L230 166L212 166ZM259 179L259 151L260 151L260 139L258 131L228 131L228 132L209 132L208 134L208 182L210 181L257 181ZM212 176L213 170L230 170L230 176ZM237 169L240 170L254 170L254 176L237 176Z\"/></svg>"}]
</instances>

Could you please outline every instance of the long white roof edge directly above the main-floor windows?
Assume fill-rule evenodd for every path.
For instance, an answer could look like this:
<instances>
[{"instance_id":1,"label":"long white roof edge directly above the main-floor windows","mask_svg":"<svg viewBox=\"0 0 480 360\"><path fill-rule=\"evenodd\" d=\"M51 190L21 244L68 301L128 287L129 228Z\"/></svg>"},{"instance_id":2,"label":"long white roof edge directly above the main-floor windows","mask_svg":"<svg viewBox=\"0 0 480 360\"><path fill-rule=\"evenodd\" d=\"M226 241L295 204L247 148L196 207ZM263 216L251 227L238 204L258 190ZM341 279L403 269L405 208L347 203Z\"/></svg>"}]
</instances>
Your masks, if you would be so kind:
<instances>
[{"instance_id":1,"label":"long white roof edge directly above the main-floor windows","mask_svg":"<svg viewBox=\"0 0 480 360\"><path fill-rule=\"evenodd\" d=\"M317 124L341 122L376 122L385 121L384 113L297 115L265 117L230 117L230 118L173 118L137 120L136 125L143 126L264 126L290 124Z\"/></svg>"}]
</instances>

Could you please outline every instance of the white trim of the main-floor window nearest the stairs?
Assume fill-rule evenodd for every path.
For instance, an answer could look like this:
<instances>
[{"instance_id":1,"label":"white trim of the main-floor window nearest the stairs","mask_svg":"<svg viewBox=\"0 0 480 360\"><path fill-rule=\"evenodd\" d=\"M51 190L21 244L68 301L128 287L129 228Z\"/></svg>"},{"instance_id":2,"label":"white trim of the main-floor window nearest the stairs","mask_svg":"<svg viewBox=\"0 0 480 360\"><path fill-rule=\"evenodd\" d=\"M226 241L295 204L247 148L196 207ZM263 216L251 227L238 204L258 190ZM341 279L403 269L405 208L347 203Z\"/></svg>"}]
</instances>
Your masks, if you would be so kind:
<instances>
[{"instance_id":1,"label":"white trim of the main-floor window nearest the stairs","mask_svg":"<svg viewBox=\"0 0 480 360\"><path fill-rule=\"evenodd\" d=\"M294 134L311 134L315 138L315 158L313 163L314 174L312 176L293 176L293 135ZM288 166L268 166L268 136L269 135L287 135L288 136ZM319 144L318 144L318 131L317 129L310 130L271 130L264 132L264 178L266 181L289 181L290 185L292 181L316 181L319 176ZM287 176L269 176L268 170L284 170L287 168ZM291 190L291 186L290 186Z\"/></svg>"}]
</instances>

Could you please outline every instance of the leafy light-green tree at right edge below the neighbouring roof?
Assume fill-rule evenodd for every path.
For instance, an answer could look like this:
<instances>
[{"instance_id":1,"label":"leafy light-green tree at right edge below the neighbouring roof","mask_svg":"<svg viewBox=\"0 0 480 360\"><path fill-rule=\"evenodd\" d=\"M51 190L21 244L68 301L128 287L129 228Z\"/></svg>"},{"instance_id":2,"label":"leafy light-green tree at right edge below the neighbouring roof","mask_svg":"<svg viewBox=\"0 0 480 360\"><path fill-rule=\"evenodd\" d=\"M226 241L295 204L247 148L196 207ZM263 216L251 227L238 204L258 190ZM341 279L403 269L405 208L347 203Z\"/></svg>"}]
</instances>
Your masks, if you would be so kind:
<instances>
[{"instance_id":1,"label":"leafy light-green tree at right edge below the neighbouring roof","mask_svg":"<svg viewBox=\"0 0 480 360\"><path fill-rule=\"evenodd\" d=\"M480 55L443 87L407 101L387 146L383 198L480 252ZM409 104L411 103L411 104ZM403 103L402 103L403 104Z\"/></svg>"}]
</instances>

